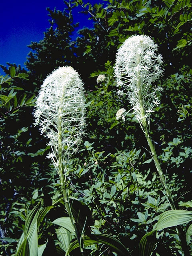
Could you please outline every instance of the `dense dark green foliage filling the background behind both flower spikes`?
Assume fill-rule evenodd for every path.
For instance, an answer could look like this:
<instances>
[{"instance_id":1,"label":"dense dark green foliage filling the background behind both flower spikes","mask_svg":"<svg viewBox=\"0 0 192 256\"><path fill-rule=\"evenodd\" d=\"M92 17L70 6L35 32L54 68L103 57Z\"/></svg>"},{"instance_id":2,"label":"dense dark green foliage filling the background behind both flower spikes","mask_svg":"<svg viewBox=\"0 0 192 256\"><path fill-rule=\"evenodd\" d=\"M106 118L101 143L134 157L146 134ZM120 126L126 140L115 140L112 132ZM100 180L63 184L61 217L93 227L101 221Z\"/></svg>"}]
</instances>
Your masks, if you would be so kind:
<instances>
[{"instance_id":1,"label":"dense dark green foliage filling the background behind both flower spikes","mask_svg":"<svg viewBox=\"0 0 192 256\"><path fill-rule=\"evenodd\" d=\"M73 24L72 10L76 6L94 23L93 28L80 30L78 38L72 41L77 27ZM117 48L131 35L146 34L159 45L165 68L159 81L163 92L160 92L161 104L151 115L150 134L177 209L191 210L192 3L108 0L92 6L75 0L66 2L64 8L64 11L48 9L50 28L43 40L29 46L32 50L26 62L29 71L10 64L9 70L4 68L7 76L0 77L0 235L3 238L0 254L14 255L14 239L22 234L27 214L40 199L42 207L50 206L40 212L42 221L38 222L38 244L46 248L42 255L50 252L50 244L64 238L61 229L64 227L54 224L54 220L68 217L57 184L58 175L45 159L49 146L38 128L33 127L32 113L34 96L44 78L55 68L67 65L79 72L86 90L86 136L69 164L67 184L71 198L75 198L70 199L71 205L75 202L74 210L79 209L78 228L88 236L84 238L88 243L86 252L92 256L101 253L116 256L106 244L91 245L94 239L91 240L90 234L98 234L99 239L107 234L117 238L132 256L138 255L140 240L147 234L152 256L180 255L175 228L157 231L154 237L147 233L153 230L159 214L170 206L132 112L126 115L125 122L116 120L120 108L128 111L131 106L116 93L113 65ZM106 79L97 83L100 74ZM88 216L85 226L81 212ZM190 243L190 224L184 224L183 229L184 232L188 229ZM66 236L70 235L66 232ZM70 248L78 247L74 237L72 242ZM143 239L142 243L145 242ZM189 247L192 251L191 244ZM52 246L52 250L64 255L60 244ZM78 253L76 248L70 255Z\"/></svg>"}]
</instances>

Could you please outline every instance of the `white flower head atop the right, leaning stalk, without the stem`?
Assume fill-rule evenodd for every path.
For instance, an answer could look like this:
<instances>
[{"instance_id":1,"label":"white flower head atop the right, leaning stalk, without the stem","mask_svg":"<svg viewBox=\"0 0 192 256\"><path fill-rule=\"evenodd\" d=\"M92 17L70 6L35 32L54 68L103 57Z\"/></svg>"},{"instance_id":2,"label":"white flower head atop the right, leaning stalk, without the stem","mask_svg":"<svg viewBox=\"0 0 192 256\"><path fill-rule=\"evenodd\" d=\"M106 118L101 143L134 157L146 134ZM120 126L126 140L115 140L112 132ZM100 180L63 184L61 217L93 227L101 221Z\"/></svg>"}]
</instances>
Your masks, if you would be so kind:
<instances>
[{"instance_id":1,"label":"white flower head atop the right, leaning stalk, without the stem","mask_svg":"<svg viewBox=\"0 0 192 256\"><path fill-rule=\"evenodd\" d=\"M160 87L151 86L162 75L162 56L156 54L157 44L148 36L131 36L118 49L114 73L119 87L118 94L126 95L133 106L134 114L140 122L144 115L149 118L159 100L156 91Z\"/></svg>"}]
</instances>

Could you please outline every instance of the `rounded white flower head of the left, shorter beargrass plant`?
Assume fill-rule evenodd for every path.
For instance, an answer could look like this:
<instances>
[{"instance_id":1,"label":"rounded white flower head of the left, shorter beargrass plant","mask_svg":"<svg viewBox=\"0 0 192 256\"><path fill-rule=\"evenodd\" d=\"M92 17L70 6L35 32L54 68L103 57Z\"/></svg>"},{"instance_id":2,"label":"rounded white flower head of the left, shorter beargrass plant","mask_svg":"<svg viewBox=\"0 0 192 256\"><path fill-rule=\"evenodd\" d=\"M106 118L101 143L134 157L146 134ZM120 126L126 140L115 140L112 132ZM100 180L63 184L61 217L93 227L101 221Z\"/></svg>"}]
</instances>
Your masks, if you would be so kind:
<instances>
[{"instance_id":1,"label":"rounded white flower head of the left, shorter beargrass plant","mask_svg":"<svg viewBox=\"0 0 192 256\"><path fill-rule=\"evenodd\" d=\"M60 67L52 72L41 86L34 112L35 125L50 140L52 158L58 165L68 160L81 140L85 128L83 83L72 67Z\"/></svg>"}]
</instances>

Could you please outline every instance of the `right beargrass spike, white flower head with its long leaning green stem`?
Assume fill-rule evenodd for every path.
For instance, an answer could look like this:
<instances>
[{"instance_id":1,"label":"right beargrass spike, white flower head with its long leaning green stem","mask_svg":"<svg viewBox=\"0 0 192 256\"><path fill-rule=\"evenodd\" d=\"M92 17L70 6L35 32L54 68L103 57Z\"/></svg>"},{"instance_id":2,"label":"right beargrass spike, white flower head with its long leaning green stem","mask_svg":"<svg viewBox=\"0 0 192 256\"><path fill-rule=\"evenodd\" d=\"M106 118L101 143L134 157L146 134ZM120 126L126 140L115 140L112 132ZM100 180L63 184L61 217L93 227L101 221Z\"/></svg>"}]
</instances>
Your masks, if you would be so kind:
<instances>
[{"instance_id":1,"label":"right beargrass spike, white flower head with its long leaning green stem","mask_svg":"<svg viewBox=\"0 0 192 256\"><path fill-rule=\"evenodd\" d=\"M132 105L131 110L145 134L154 160L156 170L166 191L166 197L172 210L175 210L174 200L164 174L162 172L154 143L150 138L150 113L158 106L159 99L156 95L158 86L152 86L162 75L162 56L157 54L157 44L148 36L131 36L118 49L114 72L117 80L118 93L125 95ZM124 115L125 116L125 115ZM178 235L185 255L190 255L186 239L182 236L182 229L178 227Z\"/></svg>"}]
</instances>

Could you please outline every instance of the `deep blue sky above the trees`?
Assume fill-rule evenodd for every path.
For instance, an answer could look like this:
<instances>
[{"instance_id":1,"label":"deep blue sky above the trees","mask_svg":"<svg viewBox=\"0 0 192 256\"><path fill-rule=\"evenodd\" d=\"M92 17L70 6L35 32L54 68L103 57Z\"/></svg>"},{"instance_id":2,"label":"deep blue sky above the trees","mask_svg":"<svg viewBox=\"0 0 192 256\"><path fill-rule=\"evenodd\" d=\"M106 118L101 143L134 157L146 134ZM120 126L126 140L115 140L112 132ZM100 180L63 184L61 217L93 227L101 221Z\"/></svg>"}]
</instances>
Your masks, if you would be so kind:
<instances>
[{"instance_id":1,"label":"deep blue sky above the trees","mask_svg":"<svg viewBox=\"0 0 192 256\"><path fill-rule=\"evenodd\" d=\"M102 0L84 0L92 4L103 2ZM47 7L63 10L63 0L1 0L0 1L0 64L20 64L24 67L26 56L30 49L30 42L38 42L43 39L43 32L48 28ZM81 8L74 9L74 22L80 22L83 26L92 26L85 14L78 13ZM3 74L0 68L0 74Z\"/></svg>"}]
</instances>

